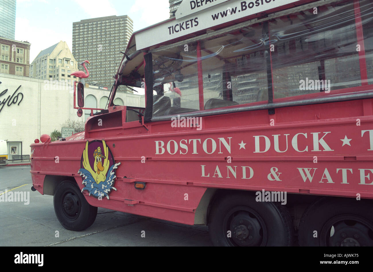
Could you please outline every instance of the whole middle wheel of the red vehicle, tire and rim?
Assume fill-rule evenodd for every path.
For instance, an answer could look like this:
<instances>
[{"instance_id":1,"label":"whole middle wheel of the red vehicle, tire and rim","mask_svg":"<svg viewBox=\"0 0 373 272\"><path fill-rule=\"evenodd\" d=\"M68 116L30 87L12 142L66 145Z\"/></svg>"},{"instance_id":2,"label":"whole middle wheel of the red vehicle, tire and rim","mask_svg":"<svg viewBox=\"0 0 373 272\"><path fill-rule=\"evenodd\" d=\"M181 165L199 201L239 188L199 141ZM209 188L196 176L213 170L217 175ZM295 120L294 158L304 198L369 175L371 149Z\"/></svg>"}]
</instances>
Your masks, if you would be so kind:
<instances>
[{"instance_id":1,"label":"whole middle wheel of the red vehicle, tire and rim","mask_svg":"<svg viewBox=\"0 0 373 272\"><path fill-rule=\"evenodd\" d=\"M292 220L278 203L257 202L248 192L233 192L214 202L209 216L214 246L290 246ZM231 237L228 237L231 231Z\"/></svg>"}]
</instances>

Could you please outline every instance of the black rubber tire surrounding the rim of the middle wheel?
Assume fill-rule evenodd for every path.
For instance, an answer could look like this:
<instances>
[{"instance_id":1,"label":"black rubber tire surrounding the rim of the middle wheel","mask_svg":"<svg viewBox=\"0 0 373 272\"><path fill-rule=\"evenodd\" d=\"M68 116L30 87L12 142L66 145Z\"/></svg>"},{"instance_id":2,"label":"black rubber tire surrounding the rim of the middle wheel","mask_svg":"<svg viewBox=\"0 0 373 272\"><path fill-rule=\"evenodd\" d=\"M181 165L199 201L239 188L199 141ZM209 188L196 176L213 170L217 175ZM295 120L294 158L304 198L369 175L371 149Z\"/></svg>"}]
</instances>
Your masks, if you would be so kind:
<instances>
[{"instance_id":1,"label":"black rubber tire surrounding the rim of the middle wheel","mask_svg":"<svg viewBox=\"0 0 373 272\"><path fill-rule=\"evenodd\" d=\"M213 203L209 214L209 233L214 246L241 246L232 237L228 238L227 231L230 227L224 226L225 218L231 218L234 209L251 209L257 213L257 221L264 224L264 235L261 242L250 246L291 246L294 238L294 228L288 209L276 202L257 202L252 192L235 192L218 196ZM229 221L229 220L228 220ZM232 236L233 236L233 230ZM250 234L250 231L248 231ZM263 233L263 232L262 232ZM247 238L246 238L247 239ZM245 240L246 240L245 239ZM255 238L254 238L255 239ZM242 242L242 241L241 241Z\"/></svg>"}]
</instances>

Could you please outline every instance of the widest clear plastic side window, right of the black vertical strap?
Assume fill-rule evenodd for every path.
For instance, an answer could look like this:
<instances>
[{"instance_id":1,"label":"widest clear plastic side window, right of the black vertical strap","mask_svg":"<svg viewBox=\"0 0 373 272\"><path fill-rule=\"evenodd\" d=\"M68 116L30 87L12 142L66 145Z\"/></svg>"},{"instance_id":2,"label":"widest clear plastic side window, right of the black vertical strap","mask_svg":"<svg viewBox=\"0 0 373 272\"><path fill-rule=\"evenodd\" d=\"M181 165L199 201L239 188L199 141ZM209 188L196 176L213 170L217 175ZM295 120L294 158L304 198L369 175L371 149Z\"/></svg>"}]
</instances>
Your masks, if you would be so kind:
<instances>
[{"instance_id":1,"label":"widest clear plastic side window, right of the black vertical strap","mask_svg":"<svg viewBox=\"0 0 373 272\"><path fill-rule=\"evenodd\" d=\"M326 88L317 88L318 80L330 83L326 91L361 86L351 1L320 6L317 14L311 8L270 20L269 31L275 45L275 98L276 93L288 97L323 92ZM303 88L301 80L309 88Z\"/></svg>"}]
</instances>

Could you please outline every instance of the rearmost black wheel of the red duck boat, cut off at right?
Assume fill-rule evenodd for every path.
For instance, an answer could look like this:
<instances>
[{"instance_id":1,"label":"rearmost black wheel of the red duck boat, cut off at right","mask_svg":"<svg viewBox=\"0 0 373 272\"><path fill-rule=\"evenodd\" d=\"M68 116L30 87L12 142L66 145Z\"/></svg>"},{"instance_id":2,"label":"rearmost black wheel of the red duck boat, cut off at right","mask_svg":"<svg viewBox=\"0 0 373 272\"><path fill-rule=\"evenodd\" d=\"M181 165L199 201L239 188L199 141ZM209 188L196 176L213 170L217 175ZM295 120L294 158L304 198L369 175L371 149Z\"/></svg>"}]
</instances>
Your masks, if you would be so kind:
<instances>
[{"instance_id":1,"label":"rearmost black wheel of the red duck boat, cut off at right","mask_svg":"<svg viewBox=\"0 0 373 272\"><path fill-rule=\"evenodd\" d=\"M373 202L322 198L302 215L301 246L373 246ZM317 231L317 233L315 232ZM317 237L314 237L316 236Z\"/></svg>"}]
</instances>

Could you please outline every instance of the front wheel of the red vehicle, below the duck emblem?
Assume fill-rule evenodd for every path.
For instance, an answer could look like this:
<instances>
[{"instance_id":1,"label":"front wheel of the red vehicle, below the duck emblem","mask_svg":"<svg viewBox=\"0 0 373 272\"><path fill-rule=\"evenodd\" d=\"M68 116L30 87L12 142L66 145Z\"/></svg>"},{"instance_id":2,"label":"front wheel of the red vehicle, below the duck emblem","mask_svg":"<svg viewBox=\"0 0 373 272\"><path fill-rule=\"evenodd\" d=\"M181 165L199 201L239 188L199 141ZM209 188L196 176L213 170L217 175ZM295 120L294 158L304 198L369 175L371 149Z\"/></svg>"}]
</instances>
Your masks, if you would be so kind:
<instances>
[{"instance_id":1,"label":"front wheel of the red vehicle, below the duck emblem","mask_svg":"<svg viewBox=\"0 0 373 272\"><path fill-rule=\"evenodd\" d=\"M53 206L58 221L68 230L85 230L96 219L97 207L88 204L78 185L70 180L64 180L57 186Z\"/></svg>"}]
</instances>

